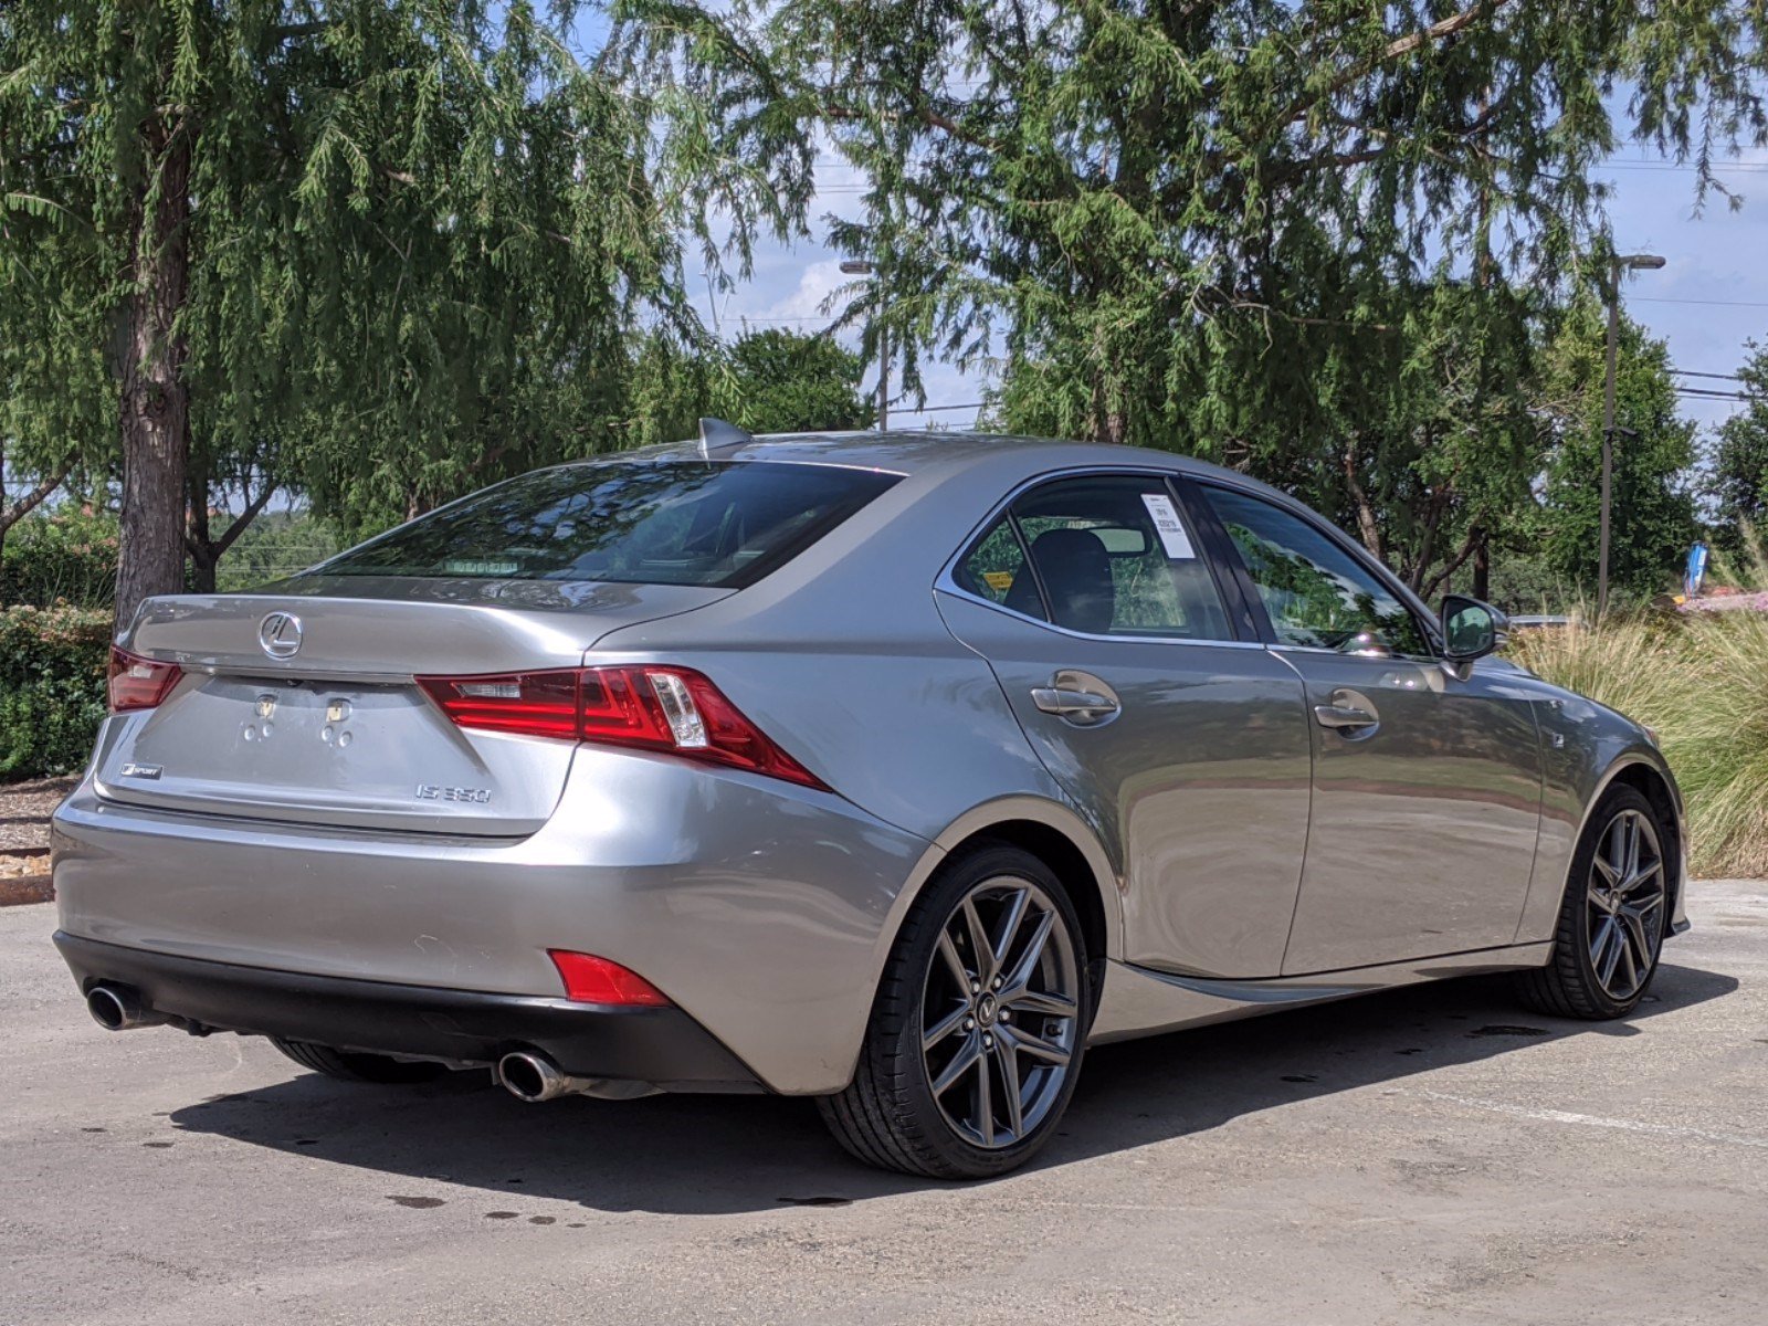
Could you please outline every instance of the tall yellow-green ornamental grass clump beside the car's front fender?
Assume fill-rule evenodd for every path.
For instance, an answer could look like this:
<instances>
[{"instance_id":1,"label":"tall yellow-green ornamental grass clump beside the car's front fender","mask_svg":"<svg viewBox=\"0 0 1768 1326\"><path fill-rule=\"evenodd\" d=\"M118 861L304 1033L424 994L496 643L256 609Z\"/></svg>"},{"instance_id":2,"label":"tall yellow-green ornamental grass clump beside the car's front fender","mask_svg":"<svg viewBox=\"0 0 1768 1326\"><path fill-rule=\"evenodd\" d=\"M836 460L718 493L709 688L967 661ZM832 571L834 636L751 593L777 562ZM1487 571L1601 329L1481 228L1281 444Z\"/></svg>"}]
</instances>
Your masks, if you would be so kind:
<instances>
[{"instance_id":1,"label":"tall yellow-green ornamental grass clump beside the car's front fender","mask_svg":"<svg viewBox=\"0 0 1768 1326\"><path fill-rule=\"evenodd\" d=\"M1697 875L1768 875L1768 615L1611 617L1526 631L1512 656L1657 730Z\"/></svg>"}]
</instances>

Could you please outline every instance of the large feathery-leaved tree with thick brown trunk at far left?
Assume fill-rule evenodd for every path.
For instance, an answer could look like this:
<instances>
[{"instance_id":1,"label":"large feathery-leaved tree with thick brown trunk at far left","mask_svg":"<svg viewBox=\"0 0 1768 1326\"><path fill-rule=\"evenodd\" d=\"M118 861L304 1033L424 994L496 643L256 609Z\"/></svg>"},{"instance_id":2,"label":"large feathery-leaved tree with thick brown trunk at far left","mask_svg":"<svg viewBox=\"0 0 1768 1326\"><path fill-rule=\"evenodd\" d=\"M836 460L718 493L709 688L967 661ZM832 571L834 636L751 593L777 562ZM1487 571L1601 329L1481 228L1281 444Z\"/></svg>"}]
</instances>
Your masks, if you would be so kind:
<instances>
[{"instance_id":1,"label":"large feathery-leaved tree with thick brown trunk at far left","mask_svg":"<svg viewBox=\"0 0 1768 1326\"><path fill-rule=\"evenodd\" d=\"M189 548L212 569L228 530L203 514L242 456L278 465L244 465L248 509L293 481L384 523L605 446L638 313L695 332L649 111L573 58L576 9L0 11L0 272L48 269L118 332L120 619L182 587ZM108 339L0 316L0 341L55 338L46 357Z\"/></svg>"}]
</instances>

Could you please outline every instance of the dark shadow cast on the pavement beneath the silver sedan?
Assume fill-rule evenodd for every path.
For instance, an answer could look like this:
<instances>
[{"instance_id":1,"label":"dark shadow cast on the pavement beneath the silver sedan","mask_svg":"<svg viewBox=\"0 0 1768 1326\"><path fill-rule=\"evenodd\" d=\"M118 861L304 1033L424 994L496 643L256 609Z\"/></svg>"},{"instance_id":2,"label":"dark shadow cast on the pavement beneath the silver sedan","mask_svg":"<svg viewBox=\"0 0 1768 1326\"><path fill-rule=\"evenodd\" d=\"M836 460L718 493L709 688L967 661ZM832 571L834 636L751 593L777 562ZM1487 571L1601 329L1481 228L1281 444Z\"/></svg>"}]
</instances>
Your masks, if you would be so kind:
<instances>
[{"instance_id":1,"label":"dark shadow cast on the pavement beneath the silver sedan","mask_svg":"<svg viewBox=\"0 0 1768 1326\"><path fill-rule=\"evenodd\" d=\"M1501 981L1460 979L1094 1047L1068 1117L1034 1169L1398 1084L1524 1045L1635 1036L1650 1018L1736 988L1731 976L1665 964L1632 1018L1589 1024L1519 1011ZM408 1206L440 1204L426 1181L509 1202L681 1215L843 1204L937 1186L849 1160L808 1100L576 1096L523 1105L486 1082L488 1075L454 1073L435 1086L371 1087L301 1073L187 1105L171 1121L191 1133L380 1170L387 1199Z\"/></svg>"}]
</instances>

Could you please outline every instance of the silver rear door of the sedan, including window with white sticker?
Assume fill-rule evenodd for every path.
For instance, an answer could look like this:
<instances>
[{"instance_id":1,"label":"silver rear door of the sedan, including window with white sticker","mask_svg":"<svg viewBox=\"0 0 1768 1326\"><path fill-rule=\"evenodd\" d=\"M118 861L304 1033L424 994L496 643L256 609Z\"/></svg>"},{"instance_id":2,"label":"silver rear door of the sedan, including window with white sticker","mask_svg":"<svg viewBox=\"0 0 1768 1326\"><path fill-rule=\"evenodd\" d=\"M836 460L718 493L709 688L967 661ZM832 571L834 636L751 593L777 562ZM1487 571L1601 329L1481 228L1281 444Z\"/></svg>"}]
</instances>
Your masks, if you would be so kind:
<instances>
[{"instance_id":1,"label":"silver rear door of the sedan, including window with white sticker","mask_svg":"<svg viewBox=\"0 0 1768 1326\"><path fill-rule=\"evenodd\" d=\"M992 520L939 608L1112 852L1126 960L1275 976L1307 843L1301 682L1202 553L1165 476L1073 474Z\"/></svg>"}]
</instances>

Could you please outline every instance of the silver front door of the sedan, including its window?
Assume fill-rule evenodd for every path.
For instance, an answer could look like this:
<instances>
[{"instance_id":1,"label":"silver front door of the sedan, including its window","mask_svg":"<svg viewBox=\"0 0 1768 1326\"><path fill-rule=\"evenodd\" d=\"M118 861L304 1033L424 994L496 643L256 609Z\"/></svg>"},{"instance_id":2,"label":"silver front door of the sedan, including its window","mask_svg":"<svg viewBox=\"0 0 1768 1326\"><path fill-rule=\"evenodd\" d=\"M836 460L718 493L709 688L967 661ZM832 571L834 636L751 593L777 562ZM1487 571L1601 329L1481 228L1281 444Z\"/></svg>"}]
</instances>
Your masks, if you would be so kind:
<instances>
[{"instance_id":1,"label":"silver front door of the sedan, including its window","mask_svg":"<svg viewBox=\"0 0 1768 1326\"><path fill-rule=\"evenodd\" d=\"M1529 697L1501 665L1444 668L1434 628L1324 522L1197 492L1307 686L1314 813L1284 974L1512 942L1540 827Z\"/></svg>"}]
</instances>

